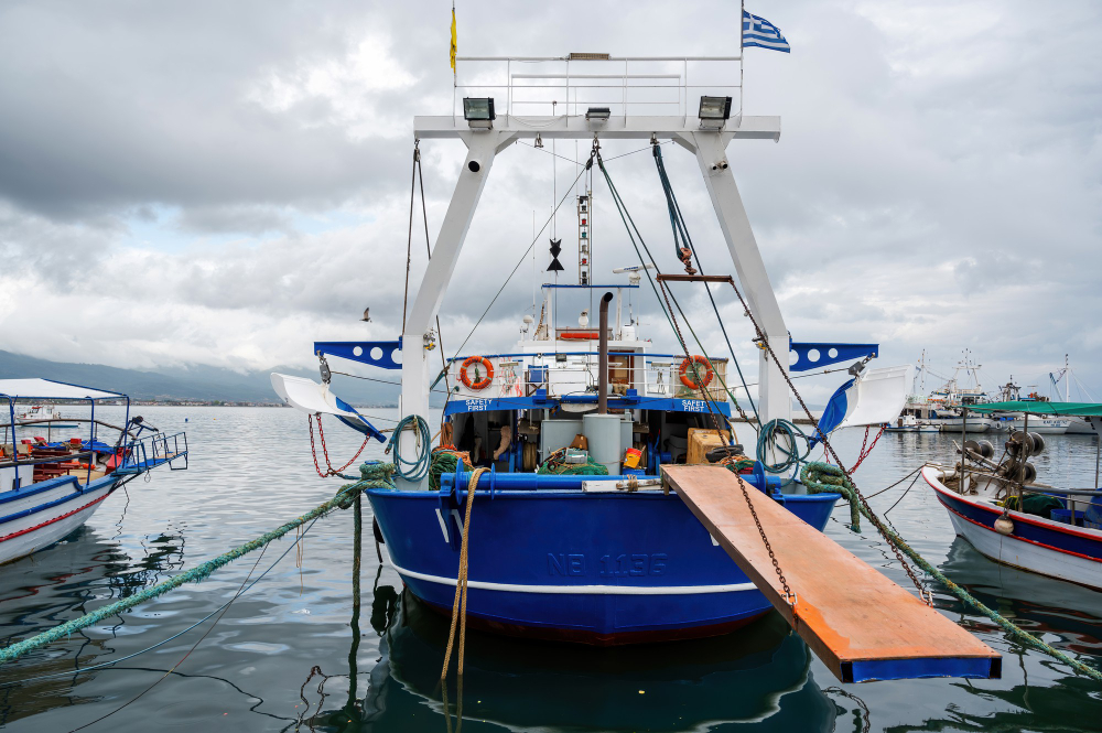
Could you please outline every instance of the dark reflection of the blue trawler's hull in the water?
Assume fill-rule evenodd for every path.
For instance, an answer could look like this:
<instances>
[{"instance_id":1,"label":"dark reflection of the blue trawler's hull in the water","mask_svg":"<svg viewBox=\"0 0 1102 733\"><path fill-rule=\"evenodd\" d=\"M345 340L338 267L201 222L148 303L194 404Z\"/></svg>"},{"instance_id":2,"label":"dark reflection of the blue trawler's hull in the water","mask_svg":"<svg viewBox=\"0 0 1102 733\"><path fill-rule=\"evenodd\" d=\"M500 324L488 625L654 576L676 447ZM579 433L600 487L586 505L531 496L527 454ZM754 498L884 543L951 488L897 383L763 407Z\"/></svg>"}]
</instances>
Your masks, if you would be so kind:
<instances>
[{"instance_id":1,"label":"dark reflection of the blue trawler's hull in the water","mask_svg":"<svg viewBox=\"0 0 1102 733\"><path fill-rule=\"evenodd\" d=\"M371 622L382 639L364 698L328 707L345 682L329 683L315 668L303 702L321 712L304 715L302 726L444 730L439 679L447 619L381 585ZM474 632L467 645L464 730L704 731L756 723L765 731L830 731L838 712L809 673L807 646L776 614L735 634L668 645L591 649Z\"/></svg>"}]
</instances>

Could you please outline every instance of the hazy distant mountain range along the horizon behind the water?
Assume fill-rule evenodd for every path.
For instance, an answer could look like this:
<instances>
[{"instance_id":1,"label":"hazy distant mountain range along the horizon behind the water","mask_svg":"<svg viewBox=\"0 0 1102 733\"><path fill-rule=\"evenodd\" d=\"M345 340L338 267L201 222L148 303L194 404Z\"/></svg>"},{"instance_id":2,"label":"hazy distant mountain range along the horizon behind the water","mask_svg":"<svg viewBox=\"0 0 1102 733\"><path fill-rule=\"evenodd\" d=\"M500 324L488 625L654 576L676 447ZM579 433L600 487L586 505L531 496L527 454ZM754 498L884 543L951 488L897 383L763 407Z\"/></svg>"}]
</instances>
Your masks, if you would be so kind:
<instances>
[{"instance_id":1,"label":"hazy distant mountain range along the horizon behind the water","mask_svg":"<svg viewBox=\"0 0 1102 733\"><path fill-rule=\"evenodd\" d=\"M0 379L41 377L122 392L138 400L278 403L280 400L272 390L269 376L272 371L320 380L316 369L288 366L277 366L262 371L235 371L222 367L194 365L141 371L102 364L47 362L0 351ZM391 371L389 375L380 373L376 378L399 381L399 375L398 371ZM339 376L334 377L334 391L353 405L371 407L398 405L400 388L397 385Z\"/></svg>"}]
</instances>

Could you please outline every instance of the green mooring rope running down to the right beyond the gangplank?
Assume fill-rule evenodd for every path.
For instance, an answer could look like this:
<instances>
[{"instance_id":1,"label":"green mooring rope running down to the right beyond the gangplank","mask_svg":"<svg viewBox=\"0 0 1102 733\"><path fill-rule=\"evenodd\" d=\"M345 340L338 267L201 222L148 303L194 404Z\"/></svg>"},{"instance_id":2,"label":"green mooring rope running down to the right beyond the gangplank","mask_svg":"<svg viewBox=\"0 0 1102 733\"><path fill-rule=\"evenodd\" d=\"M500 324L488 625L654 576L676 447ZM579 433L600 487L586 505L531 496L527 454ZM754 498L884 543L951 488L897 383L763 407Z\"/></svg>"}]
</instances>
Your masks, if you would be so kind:
<instances>
[{"instance_id":1,"label":"green mooring rope running down to the right beyond the gangplank","mask_svg":"<svg viewBox=\"0 0 1102 733\"><path fill-rule=\"evenodd\" d=\"M841 481L839 482L840 477ZM855 500L856 499L855 489L853 488L853 485L845 478L845 474L843 474L838 466L833 466L827 463L811 462L803 467L803 471L800 473L800 478L803 479L803 483L807 485L808 491L811 493L836 492L839 494L845 495L850 499L850 514L851 516L855 517L856 514L855 507L857 504ZM863 506L860 507L860 511L869 521L873 521L872 513L865 509L865 507ZM854 518L853 525L854 528L856 528L856 518ZM957 583L946 578L946 575L940 570L931 565L922 558L922 556L912 550L910 546L907 545L907 542L905 542L904 539L899 537L897 532L894 532L887 527L885 527L884 533L893 543L895 543L896 547L903 550L908 558L914 560L915 564L917 564L919 568L926 571L939 583L944 585L950 593L952 593L958 599L963 601L966 605L977 611L980 614L995 622L1003 630L1008 633L1013 638L1016 638L1028 646L1031 646L1051 657L1055 657L1056 659L1068 665L1069 667L1071 667L1073 670L1076 670L1081 675L1085 675L1091 679L1102 682L1102 671L1099 671L1093 667L1089 667L1077 659L1072 659L1071 657L1063 654L1059 649L1051 647L1048 644L1045 644L1033 634L1018 628L1009 621L1004 618L997 612L992 611L987 606L983 605L983 603L981 603L979 599L973 596L963 588L961 588Z\"/></svg>"}]
</instances>

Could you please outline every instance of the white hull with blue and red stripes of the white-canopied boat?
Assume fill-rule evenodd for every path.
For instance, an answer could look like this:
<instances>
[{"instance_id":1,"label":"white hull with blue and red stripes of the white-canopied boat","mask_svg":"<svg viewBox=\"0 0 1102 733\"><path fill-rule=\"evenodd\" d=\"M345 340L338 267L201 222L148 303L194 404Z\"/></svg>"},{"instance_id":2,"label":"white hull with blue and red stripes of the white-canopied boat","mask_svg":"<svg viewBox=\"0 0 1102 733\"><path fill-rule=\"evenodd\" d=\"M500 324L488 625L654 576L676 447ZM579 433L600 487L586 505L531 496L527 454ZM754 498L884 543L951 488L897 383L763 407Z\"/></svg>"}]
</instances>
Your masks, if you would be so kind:
<instances>
[{"instance_id":1,"label":"white hull with blue and red stripes of the white-canopied boat","mask_svg":"<svg viewBox=\"0 0 1102 733\"><path fill-rule=\"evenodd\" d=\"M18 560L65 539L96 513L115 487L115 476L93 481L85 491L65 481L44 492L11 497L0 504L0 564ZM33 491L30 486L24 491ZM4 494L8 494L7 492ZM4 498L0 494L0 498ZM42 507L33 510L36 507ZM26 516L17 516L25 510Z\"/></svg>"}]
</instances>

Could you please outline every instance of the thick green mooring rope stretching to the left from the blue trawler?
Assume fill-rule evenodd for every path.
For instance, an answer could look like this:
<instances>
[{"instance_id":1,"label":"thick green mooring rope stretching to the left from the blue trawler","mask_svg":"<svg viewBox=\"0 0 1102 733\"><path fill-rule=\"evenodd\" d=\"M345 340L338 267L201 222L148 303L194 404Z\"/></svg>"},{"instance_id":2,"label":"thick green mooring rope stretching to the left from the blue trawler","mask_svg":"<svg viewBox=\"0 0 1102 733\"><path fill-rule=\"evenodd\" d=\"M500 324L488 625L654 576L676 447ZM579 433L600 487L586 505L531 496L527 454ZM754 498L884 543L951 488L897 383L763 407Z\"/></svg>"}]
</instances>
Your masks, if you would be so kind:
<instances>
[{"instance_id":1,"label":"thick green mooring rope stretching to the left from the blue trawler","mask_svg":"<svg viewBox=\"0 0 1102 733\"><path fill-rule=\"evenodd\" d=\"M151 585L150 588L134 593L129 597L122 599L121 601L117 601L101 608L97 608L96 611L85 614L79 618L74 618L73 621L54 626L50 630L43 632L37 636L32 636L29 639L4 647L0 649L0 664L12 661L13 659L18 659L19 657L22 657L39 647L67 638L74 632L98 624L105 618L116 616L123 611L144 603L145 601L150 601L168 593L173 589L180 588L184 583L201 581L223 565L229 564L234 560L237 560L241 556L248 554L253 550L259 550L272 540L283 537L292 529L301 527L312 519L324 516L336 508L348 508L355 502L358 492L363 492L368 488L395 488L393 479L390 477L395 472L395 466L392 464L372 461L361 465L359 471L361 475L359 481L354 484L346 484L345 486L342 486L332 499L314 507L298 519L292 519L291 521L281 525L269 532L264 532L260 537L250 540L245 545L234 548L229 552L219 554L213 560L207 560L188 571L182 572L179 575L173 575L169 580L158 583L156 585Z\"/></svg>"}]
</instances>

